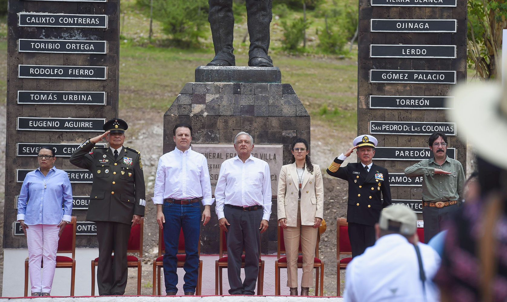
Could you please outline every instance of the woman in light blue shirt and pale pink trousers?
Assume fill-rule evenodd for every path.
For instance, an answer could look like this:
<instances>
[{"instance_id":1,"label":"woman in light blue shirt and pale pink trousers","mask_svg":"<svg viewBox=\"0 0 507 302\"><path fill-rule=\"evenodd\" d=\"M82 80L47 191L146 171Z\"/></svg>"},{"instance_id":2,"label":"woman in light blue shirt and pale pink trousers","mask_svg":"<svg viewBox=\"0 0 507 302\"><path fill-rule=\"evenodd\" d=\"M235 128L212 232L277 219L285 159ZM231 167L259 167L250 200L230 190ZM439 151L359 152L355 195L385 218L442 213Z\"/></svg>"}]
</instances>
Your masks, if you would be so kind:
<instances>
[{"instance_id":1,"label":"woman in light blue shirt and pale pink trousers","mask_svg":"<svg viewBox=\"0 0 507 302\"><path fill-rule=\"evenodd\" d=\"M53 166L55 160L50 147L39 150L39 168L26 174L18 198L17 219L28 245L32 296L50 295L58 239L71 219L72 188L67 173Z\"/></svg>"}]
</instances>

